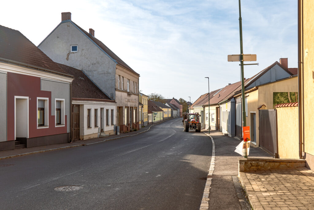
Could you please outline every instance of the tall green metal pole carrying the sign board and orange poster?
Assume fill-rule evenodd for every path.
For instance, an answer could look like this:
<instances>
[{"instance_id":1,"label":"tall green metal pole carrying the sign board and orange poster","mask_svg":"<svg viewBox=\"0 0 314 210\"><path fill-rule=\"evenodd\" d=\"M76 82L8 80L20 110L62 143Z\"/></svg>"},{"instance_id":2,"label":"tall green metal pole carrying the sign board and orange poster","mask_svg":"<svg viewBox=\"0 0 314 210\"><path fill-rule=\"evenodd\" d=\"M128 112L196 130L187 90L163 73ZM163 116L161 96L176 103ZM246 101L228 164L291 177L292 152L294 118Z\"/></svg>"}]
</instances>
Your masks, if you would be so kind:
<instances>
[{"instance_id":1,"label":"tall green metal pole carrying the sign board and orange poster","mask_svg":"<svg viewBox=\"0 0 314 210\"><path fill-rule=\"evenodd\" d=\"M241 18L241 0L239 0L239 26L240 26L240 61L241 61L241 85L242 85L242 122L243 127L246 126L245 113L245 95L244 95L244 65L243 65L243 42L242 42L242 18ZM244 156L247 158L247 156Z\"/></svg>"}]
</instances>

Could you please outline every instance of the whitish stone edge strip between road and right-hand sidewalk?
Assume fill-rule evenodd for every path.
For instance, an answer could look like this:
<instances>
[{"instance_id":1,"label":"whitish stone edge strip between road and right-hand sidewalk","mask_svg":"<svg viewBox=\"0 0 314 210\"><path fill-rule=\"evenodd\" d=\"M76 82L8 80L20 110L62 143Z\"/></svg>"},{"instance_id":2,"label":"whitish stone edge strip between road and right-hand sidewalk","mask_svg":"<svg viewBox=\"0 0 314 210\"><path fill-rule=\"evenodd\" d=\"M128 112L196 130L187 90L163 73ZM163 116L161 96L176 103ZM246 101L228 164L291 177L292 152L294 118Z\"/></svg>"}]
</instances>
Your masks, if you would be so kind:
<instances>
[{"instance_id":1,"label":"whitish stone edge strip between road and right-hand sidewalk","mask_svg":"<svg viewBox=\"0 0 314 210\"><path fill-rule=\"evenodd\" d=\"M205 133L205 132L203 132L203 133ZM211 137L208 133L205 133L205 134L208 135L212 139L212 143L213 143L212 160L210 161L210 167L209 167L209 171L208 171L208 176L211 176L211 175L213 175L213 172L215 169L215 142L214 142L213 137ZM207 180L206 180L202 203L201 203L201 206L199 207L200 210L205 210L205 209L208 210L209 192L210 192L210 188L211 188L210 185L212 184L212 179L213 178L207 178Z\"/></svg>"}]
</instances>

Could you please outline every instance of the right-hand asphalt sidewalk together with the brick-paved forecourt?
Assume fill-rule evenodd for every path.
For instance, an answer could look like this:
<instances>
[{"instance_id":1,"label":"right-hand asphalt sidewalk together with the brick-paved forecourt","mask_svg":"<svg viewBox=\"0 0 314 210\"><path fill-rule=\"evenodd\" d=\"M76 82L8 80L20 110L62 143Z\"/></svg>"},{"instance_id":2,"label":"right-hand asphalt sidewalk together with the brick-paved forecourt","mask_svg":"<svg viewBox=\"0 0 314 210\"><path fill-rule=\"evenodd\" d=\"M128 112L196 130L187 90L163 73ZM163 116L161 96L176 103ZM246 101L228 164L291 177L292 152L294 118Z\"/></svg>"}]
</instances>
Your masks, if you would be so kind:
<instances>
[{"instance_id":1,"label":"right-hand asphalt sidewalk together with the brick-paved forecourt","mask_svg":"<svg viewBox=\"0 0 314 210\"><path fill-rule=\"evenodd\" d=\"M208 130L202 131L208 133ZM254 210L314 210L314 171L306 167L299 167L303 160L287 163L288 167L289 164L295 164L290 165L290 168L242 172L242 170L239 171L239 159L245 162L247 162L246 160L255 161L258 159L263 161L265 158L274 162L290 162L290 159L273 159L260 148L252 147L250 147L249 158L244 159L234 152L240 140L225 136L218 131L210 130L210 135L215 144L213 175L218 176L215 179L213 176L211 179L208 209L245 209L238 197L238 192L234 189L236 184L234 188L231 185L230 177L239 176ZM282 167L282 165L278 167ZM220 179L218 179L219 175L221 176ZM223 202L221 202L221 198L223 198Z\"/></svg>"}]
</instances>

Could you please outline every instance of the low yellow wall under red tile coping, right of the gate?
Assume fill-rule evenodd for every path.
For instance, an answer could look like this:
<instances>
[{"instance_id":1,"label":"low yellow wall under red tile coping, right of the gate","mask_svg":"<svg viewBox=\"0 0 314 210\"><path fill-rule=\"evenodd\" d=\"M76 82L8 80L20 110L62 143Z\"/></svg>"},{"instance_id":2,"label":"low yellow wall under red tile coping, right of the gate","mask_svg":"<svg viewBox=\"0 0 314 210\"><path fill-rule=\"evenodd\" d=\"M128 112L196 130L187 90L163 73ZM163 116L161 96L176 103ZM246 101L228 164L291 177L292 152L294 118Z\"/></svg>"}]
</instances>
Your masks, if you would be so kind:
<instances>
[{"instance_id":1,"label":"low yellow wall under red tile coping, right of the gate","mask_svg":"<svg viewBox=\"0 0 314 210\"><path fill-rule=\"evenodd\" d=\"M298 106L276 108L279 158L299 158L298 108Z\"/></svg>"}]
</instances>

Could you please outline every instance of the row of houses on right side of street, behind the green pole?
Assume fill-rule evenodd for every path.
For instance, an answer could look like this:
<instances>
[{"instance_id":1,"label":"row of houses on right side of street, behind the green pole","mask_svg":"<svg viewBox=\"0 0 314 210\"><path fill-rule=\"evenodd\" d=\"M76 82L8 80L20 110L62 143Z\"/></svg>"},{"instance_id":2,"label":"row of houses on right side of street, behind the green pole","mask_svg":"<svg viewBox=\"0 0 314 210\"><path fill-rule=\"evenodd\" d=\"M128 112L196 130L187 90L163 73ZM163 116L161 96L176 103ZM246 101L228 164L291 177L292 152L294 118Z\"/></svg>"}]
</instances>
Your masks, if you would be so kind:
<instances>
[{"instance_id":1,"label":"row of houses on right side of street, behind the green pole","mask_svg":"<svg viewBox=\"0 0 314 210\"><path fill-rule=\"evenodd\" d=\"M245 79L246 126L250 126L253 147L266 145L271 133L269 116L275 105L298 101L297 68L288 68L288 59L281 58L251 78ZM201 114L203 128L219 130L230 137L242 138L241 81L201 95L191 106ZM267 116L267 117L266 117ZM267 124L267 126L266 126ZM272 134L270 134L272 135ZM266 146L265 146L266 147ZM271 150L270 148L265 148ZM273 155L274 152L269 151Z\"/></svg>"}]
</instances>

